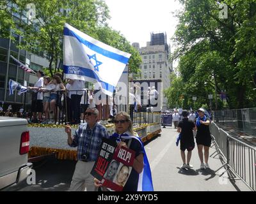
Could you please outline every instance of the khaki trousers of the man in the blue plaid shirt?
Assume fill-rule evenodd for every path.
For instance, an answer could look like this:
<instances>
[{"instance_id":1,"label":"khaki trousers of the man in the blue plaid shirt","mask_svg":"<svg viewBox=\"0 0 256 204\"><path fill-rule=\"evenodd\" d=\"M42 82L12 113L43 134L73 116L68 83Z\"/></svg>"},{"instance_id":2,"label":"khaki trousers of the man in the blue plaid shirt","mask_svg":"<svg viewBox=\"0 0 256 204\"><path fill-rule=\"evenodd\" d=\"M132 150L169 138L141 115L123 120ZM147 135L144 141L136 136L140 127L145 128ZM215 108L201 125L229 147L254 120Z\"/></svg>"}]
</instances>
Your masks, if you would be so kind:
<instances>
[{"instance_id":1,"label":"khaki trousers of the man in the blue plaid shirt","mask_svg":"<svg viewBox=\"0 0 256 204\"><path fill-rule=\"evenodd\" d=\"M97 191L97 188L94 186L94 178L90 174L94 163L94 161L77 161L76 170L70 185L70 191L85 191L85 188L86 191Z\"/></svg>"}]
</instances>

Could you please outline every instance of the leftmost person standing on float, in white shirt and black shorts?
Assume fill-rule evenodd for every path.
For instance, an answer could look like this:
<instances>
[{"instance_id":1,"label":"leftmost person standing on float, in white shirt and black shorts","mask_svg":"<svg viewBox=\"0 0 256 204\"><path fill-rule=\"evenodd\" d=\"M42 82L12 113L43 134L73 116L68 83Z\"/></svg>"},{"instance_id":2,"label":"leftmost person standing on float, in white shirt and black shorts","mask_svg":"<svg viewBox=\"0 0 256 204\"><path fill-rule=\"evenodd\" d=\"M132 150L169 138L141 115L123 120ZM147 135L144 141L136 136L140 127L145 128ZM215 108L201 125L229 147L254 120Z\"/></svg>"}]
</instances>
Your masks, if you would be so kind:
<instances>
[{"instance_id":1,"label":"leftmost person standing on float, in white shirt and black shorts","mask_svg":"<svg viewBox=\"0 0 256 204\"><path fill-rule=\"evenodd\" d=\"M28 87L33 91L32 93L32 103L31 103L31 112L33 115L32 122L38 122L36 113L38 113L38 119L39 122L42 122L42 113L44 110L43 106L43 93L38 92L40 88L44 86L44 72L39 70L36 72L36 77L38 77L38 80L34 87Z\"/></svg>"}]
</instances>

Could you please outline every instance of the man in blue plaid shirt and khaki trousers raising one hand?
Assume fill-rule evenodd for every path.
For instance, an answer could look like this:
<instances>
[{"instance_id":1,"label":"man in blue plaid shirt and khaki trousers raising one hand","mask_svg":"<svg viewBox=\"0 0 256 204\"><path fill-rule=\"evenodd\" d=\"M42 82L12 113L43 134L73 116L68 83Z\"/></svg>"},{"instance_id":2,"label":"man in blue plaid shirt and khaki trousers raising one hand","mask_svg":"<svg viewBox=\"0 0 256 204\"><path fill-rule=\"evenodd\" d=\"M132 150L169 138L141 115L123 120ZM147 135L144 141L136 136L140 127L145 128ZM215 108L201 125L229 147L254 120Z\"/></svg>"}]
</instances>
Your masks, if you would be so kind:
<instances>
[{"instance_id":1,"label":"man in blue plaid shirt and khaki trousers raising one hand","mask_svg":"<svg viewBox=\"0 0 256 204\"><path fill-rule=\"evenodd\" d=\"M87 108L84 112L86 123L80 124L72 136L69 125L65 126L68 135L68 145L77 147L76 170L72 177L70 191L96 191L93 176L90 174L97 159L102 138L109 138L107 129L97 123L99 111L97 108Z\"/></svg>"}]
</instances>

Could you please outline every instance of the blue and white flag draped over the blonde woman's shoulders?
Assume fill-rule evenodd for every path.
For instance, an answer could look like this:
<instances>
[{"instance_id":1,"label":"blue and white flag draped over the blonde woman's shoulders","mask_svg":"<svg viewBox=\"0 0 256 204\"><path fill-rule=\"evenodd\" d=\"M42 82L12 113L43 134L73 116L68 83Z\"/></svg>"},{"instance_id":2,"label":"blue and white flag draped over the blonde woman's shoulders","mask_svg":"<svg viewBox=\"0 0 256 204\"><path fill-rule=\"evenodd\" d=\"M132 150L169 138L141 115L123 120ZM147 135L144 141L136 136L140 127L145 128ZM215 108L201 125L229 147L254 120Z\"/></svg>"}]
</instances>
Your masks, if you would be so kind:
<instances>
[{"instance_id":1,"label":"blue and white flag draped over the blonde woman's shoulders","mask_svg":"<svg viewBox=\"0 0 256 204\"><path fill-rule=\"evenodd\" d=\"M147 158L147 154L144 149L143 142L141 141L141 139L137 133L136 133L136 136L128 135L127 133L128 132L126 132L122 135L118 135L117 133L114 133L112 136L110 136L110 139L115 139L116 142L120 142L121 138L124 140L135 139L135 140L138 140L138 142L140 142L141 147L143 148L143 152L144 152L144 157L143 157L144 168L143 168L143 171L139 175L137 191L154 191L150 165L148 163L148 158Z\"/></svg>"}]
</instances>

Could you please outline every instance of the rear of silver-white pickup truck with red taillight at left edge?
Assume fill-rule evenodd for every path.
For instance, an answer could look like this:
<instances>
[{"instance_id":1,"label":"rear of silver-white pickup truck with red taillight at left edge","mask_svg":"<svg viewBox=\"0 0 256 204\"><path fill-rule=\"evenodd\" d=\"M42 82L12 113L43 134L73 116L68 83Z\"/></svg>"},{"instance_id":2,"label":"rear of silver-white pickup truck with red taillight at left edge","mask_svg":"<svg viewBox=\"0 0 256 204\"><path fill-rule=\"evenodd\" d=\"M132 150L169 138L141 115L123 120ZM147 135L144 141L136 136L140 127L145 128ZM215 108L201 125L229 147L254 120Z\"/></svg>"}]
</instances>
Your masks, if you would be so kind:
<instances>
[{"instance_id":1,"label":"rear of silver-white pickup truck with red taillight at left edge","mask_svg":"<svg viewBox=\"0 0 256 204\"><path fill-rule=\"evenodd\" d=\"M28 177L28 121L0 117L0 189L17 184Z\"/></svg>"}]
</instances>

